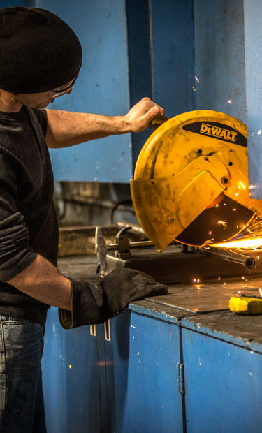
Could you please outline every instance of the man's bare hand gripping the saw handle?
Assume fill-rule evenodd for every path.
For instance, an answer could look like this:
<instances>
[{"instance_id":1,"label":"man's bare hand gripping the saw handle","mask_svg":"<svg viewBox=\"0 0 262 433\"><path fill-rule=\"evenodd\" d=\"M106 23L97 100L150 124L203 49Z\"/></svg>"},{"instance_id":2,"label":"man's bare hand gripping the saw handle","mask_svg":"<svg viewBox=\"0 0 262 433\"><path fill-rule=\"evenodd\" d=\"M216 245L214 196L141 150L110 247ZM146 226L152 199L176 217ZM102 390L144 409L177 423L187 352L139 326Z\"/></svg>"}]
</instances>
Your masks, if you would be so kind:
<instances>
[{"instance_id":1,"label":"man's bare hand gripping the saw handle","mask_svg":"<svg viewBox=\"0 0 262 433\"><path fill-rule=\"evenodd\" d=\"M131 132L141 132L147 128L149 122L157 115L164 115L162 107L151 101L150 98L143 98L124 116L127 129Z\"/></svg>"}]
</instances>

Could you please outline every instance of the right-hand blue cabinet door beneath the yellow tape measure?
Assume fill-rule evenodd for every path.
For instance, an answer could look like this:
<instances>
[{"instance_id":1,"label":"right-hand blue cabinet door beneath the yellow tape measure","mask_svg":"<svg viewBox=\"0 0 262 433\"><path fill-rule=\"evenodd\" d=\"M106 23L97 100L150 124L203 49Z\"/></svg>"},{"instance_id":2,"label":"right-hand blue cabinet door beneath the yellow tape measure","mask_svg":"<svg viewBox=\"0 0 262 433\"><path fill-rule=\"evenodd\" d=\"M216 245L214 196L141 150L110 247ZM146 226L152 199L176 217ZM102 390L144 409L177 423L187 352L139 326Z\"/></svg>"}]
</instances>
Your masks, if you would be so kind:
<instances>
[{"instance_id":1,"label":"right-hand blue cabinet door beneath the yellow tape measure","mask_svg":"<svg viewBox=\"0 0 262 433\"><path fill-rule=\"evenodd\" d=\"M182 329L187 433L261 433L262 355Z\"/></svg>"}]
</instances>

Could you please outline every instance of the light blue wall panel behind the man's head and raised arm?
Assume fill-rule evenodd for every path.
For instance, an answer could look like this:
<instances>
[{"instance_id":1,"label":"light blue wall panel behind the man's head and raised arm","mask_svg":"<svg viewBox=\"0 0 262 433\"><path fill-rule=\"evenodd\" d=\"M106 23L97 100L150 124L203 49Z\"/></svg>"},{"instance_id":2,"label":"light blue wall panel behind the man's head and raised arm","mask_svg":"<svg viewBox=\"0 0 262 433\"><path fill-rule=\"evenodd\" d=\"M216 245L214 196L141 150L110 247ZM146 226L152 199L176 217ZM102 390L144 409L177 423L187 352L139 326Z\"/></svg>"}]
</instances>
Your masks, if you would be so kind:
<instances>
[{"instance_id":1,"label":"light blue wall panel behind the man's head and raised arm","mask_svg":"<svg viewBox=\"0 0 262 433\"><path fill-rule=\"evenodd\" d=\"M124 0L36 0L64 19L78 34L83 65L71 95L52 107L102 115L129 109L129 81ZM131 135L119 135L66 149L51 149L57 180L129 182Z\"/></svg>"}]
</instances>

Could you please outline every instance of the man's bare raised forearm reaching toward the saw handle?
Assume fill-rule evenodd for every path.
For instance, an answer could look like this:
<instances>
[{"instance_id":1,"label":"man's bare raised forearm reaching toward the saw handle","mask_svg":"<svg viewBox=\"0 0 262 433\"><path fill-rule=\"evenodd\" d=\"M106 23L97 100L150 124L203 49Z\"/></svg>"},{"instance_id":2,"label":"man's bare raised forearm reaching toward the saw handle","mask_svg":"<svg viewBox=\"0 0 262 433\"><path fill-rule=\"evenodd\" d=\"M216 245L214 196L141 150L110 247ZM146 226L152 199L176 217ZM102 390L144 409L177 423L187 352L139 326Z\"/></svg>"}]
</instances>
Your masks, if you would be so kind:
<instances>
[{"instance_id":1,"label":"man's bare raised forearm reaching toward the saw handle","mask_svg":"<svg viewBox=\"0 0 262 433\"><path fill-rule=\"evenodd\" d=\"M81 142L129 132L124 116L46 110L48 147L68 147Z\"/></svg>"}]
</instances>

